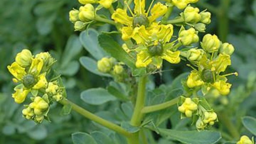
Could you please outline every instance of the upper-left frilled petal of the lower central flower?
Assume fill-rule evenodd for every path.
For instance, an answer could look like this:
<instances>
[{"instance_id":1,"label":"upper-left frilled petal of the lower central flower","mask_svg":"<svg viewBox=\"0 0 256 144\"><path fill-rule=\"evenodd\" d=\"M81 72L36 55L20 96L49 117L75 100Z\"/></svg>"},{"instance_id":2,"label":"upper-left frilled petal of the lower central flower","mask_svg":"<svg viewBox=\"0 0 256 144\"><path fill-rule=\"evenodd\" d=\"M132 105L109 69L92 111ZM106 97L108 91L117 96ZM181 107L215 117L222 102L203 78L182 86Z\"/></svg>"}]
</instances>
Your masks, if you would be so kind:
<instances>
[{"instance_id":1,"label":"upper-left frilled petal of the lower central flower","mask_svg":"<svg viewBox=\"0 0 256 144\"><path fill-rule=\"evenodd\" d=\"M137 44L145 44L149 41L150 34L146 30L145 26L135 27L133 30L132 38L136 41Z\"/></svg>"}]
</instances>

